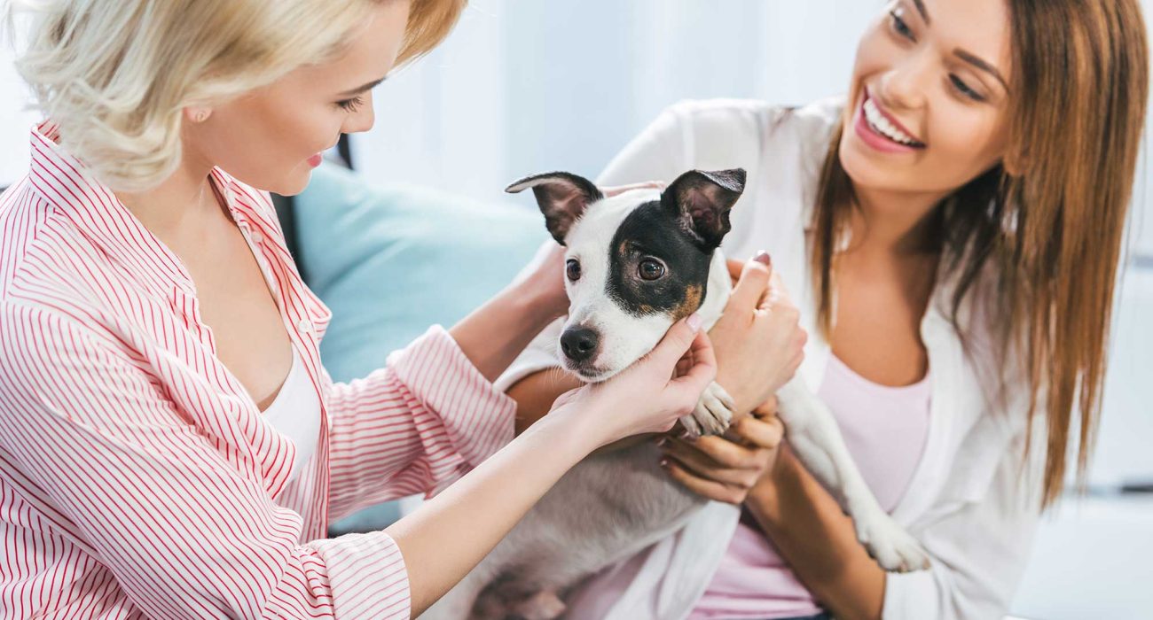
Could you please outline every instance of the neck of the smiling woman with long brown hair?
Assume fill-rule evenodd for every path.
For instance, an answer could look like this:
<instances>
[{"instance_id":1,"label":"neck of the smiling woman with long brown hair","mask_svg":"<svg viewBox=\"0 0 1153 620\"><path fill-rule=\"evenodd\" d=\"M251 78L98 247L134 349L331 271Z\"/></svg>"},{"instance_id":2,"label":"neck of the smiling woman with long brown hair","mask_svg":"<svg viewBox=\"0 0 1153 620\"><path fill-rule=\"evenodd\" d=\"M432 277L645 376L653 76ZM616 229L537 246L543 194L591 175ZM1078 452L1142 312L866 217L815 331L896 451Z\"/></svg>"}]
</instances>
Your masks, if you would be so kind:
<instances>
[{"instance_id":1,"label":"neck of the smiling woman with long brown hair","mask_svg":"<svg viewBox=\"0 0 1153 620\"><path fill-rule=\"evenodd\" d=\"M945 192L910 194L854 188L851 252L919 255L934 251L934 207Z\"/></svg>"}]
</instances>

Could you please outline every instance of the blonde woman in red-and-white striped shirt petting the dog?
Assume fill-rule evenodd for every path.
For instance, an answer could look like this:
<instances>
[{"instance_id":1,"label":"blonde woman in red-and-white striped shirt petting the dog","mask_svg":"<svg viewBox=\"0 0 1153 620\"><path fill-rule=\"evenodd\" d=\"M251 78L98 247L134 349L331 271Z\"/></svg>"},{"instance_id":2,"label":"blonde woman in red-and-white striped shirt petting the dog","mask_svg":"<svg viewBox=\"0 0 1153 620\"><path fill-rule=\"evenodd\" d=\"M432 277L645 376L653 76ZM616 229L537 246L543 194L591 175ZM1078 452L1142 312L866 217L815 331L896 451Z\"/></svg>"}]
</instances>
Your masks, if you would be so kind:
<instances>
[{"instance_id":1,"label":"blonde woman in red-and-white striped shirt petting the dog","mask_svg":"<svg viewBox=\"0 0 1153 620\"><path fill-rule=\"evenodd\" d=\"M265 190L371 127L371 88L462 5L28 3L46 120L0 198L0 617L409 618L590 451L691 410L715 375L695 316L512 439L490 381L564 312L557 252L364 379L321 366L330 315ZM481 461L387 530L324 538Z\"/></svg>"}]
</instances>

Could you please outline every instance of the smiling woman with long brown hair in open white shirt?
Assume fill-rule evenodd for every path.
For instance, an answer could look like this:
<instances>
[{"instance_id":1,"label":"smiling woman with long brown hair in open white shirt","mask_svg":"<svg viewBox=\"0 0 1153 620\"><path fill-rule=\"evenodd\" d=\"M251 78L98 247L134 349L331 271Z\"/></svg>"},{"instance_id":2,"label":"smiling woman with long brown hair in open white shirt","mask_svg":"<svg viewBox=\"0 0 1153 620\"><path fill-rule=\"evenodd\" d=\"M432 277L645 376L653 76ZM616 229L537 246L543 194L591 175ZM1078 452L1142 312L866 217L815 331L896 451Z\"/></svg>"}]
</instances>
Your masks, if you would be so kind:
<instances>
[{"instance_id":1,"label":"smiling woman with long brown hair in open white shirt","mask_svg":"<svg viewBox=\"0 0 1153 620\"><path fill-rule=\"evenodd\" d=\"M1099 417L1147 56L1137 0L895 0L844 98L684 103L630 143L601 182L748 171L724 249L771 252L812 337L801 377L933 567L886 574L868 558L778 449L769 402L733 441L665 446L673 478L743 508L691 558L695 589L678 581L660 614L630 607L642 588L671 598L658 560L676 553L655 550L594 580L572 615L1001 618ZM739 339L710 337L736 391ZM544 363L513 366L526 419L555 390L529 373Z\"/></svg>"}]
</instances>

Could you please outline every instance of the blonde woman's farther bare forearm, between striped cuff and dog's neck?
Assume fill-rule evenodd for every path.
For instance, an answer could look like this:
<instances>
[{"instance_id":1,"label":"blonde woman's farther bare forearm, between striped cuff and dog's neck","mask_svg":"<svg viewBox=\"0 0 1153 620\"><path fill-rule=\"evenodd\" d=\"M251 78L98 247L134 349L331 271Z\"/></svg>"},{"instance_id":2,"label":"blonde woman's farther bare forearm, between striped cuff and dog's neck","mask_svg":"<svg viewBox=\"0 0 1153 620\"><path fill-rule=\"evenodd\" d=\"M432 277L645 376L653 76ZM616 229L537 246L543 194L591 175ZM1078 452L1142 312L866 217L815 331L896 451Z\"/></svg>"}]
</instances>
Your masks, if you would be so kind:
<instances>
[{"instance_id":1,"label":"blonde woman's farther bare forearm, between striped cuff and dog's neck","mask_svg":"<svg viewBox=\"0 0 1153 620\"><path fill-rule=\"evenodd\" d=\"M555 318L549 304L521 283L502 290L449 333L481 375L492 381Z\"/></svg>"}]
</instances>

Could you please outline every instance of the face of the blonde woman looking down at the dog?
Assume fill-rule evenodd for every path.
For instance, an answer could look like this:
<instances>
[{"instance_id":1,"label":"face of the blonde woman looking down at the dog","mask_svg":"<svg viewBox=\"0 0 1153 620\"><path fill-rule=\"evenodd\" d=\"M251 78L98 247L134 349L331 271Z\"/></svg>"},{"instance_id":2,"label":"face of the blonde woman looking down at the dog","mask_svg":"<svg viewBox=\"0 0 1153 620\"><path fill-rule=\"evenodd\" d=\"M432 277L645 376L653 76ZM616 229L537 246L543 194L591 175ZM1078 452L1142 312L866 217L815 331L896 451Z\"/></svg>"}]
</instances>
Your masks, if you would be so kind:
<instances>
[{"instance_id":1,"label":"face of the blonde woman looking down at the dog","mask_svg":"<svg viewBox=\"0 0 1153 620\"><path fill-rule=\"evenodd\" d=\"M409 0L378 3L340 58L216 106L204 122L186 122L190 157L259 189L302 191L340 134L372 127L371 88L397 60L408 8Z\"/></svg>"}]
</instances>

